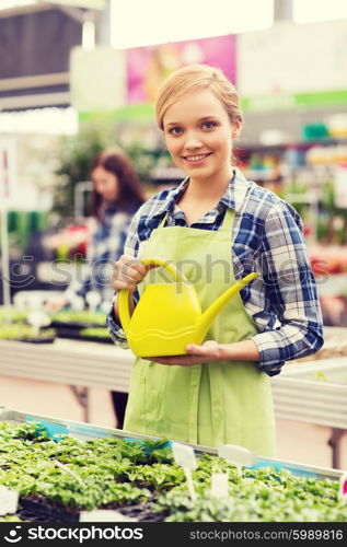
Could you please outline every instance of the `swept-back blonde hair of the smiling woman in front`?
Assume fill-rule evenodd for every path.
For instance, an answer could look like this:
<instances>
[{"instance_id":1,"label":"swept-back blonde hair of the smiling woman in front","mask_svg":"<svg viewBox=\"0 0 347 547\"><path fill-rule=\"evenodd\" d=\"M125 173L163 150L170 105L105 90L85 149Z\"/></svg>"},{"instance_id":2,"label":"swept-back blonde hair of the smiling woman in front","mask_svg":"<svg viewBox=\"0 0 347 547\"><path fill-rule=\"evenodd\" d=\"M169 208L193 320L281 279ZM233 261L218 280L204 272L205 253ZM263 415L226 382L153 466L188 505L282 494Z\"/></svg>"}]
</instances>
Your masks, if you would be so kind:
<instances>
[{"instance_id":1,"label":"swept-back blonde hair of the smiling woman in front","mask_svg":"<svg viewBox=\"0 0 347 547\"><path fill-rule=\"evenodd\" d=\"M155 101L155 120L164 129L163 118L170 106L184 95L209 89L223 104L230 121L242 121L239 93L224 73L208 65L189 65L170 74L162 83Z\"/></svg>"}]
</instances>

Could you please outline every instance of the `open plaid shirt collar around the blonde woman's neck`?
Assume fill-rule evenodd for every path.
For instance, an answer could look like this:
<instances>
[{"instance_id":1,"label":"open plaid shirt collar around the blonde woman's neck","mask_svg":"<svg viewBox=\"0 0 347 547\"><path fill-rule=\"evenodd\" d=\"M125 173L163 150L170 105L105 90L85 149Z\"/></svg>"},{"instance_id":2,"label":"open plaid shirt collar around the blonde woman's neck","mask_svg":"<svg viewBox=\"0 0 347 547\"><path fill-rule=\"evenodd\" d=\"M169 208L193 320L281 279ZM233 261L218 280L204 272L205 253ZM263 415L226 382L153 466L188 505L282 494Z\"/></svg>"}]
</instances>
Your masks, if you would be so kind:
<instances>
[{"instance_id":1,"label":"open plaid shirt collar around the blonde woman's neck","mask_svg":"<svg viewBox=\"0 0 347 547\"><path fill-rule=\"evenodd\" d=\"M245 178L244 174L238 167L233 167L233 172L234 176L231 178L228 188L225 189L217 207L220 207L222 203L229 209L233 209L238 212L241 210L242 203L252 183L250 183ZM153 217L160 217L164 212L174 210L178 198L185 191L188 184L189 177L186 177L176 188L170 191L166 196L166 199L162 201L161 206L153 213Z\"/></svg>"}]
</instances>

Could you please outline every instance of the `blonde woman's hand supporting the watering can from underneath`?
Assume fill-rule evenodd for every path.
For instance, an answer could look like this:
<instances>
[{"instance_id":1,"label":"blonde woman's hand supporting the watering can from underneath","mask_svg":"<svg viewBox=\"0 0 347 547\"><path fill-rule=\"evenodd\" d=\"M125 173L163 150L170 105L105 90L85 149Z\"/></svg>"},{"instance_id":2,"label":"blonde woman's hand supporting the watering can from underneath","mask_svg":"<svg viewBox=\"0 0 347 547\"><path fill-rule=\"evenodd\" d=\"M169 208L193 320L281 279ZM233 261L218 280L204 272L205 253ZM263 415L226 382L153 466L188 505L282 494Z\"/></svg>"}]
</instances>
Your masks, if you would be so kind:
<instances>
[{"instance_id":1,"label":"blonde woman's hand supporting the watering can from underneath","mask_svg":"<svg viewBox=\"0 0 347 547\"><path fill-rule=\"evenodd\" d=\"M190 366L192 364L203 364L210 361L218 361L221 357L221 347L215 340L207 340L203 346L189 344L186 347L187 354L148 357L149 361L160 364L175 364L178 366Z\"/></svg>"}]
</instances>

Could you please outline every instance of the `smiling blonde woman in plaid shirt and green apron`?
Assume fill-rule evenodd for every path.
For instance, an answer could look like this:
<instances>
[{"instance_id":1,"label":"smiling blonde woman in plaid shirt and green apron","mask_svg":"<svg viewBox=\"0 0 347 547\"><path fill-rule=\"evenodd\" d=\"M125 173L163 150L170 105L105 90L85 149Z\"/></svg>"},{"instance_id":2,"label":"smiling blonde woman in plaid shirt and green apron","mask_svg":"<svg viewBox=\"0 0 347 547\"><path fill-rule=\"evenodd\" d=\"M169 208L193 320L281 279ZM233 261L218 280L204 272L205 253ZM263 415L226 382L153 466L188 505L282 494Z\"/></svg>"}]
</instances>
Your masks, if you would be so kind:
<instances>
[{"instance_id":1,"label":"smiling blonde woman in plaid shirt and green apron","mask_svg":"<svg viewBox=\"0 0 347 547\"><path fill-rule=\"evenodd\" d=\"M155 116L187 177L135 216L114 288L134 291L136 305L136 288L142 290L149 269L139 259L163 258L180 263L194 279L205 310L234 280L254 270L261 277L228 303L201 346L188 345L183 356L136 360L124 427L273 456L269 376L323 344L301 220L233 166L242 115L236 90L219 69L194 65L171 74L160 89ZM107 322L114 341L127 347L116 298Z\"/></svg>"}]
</instances>

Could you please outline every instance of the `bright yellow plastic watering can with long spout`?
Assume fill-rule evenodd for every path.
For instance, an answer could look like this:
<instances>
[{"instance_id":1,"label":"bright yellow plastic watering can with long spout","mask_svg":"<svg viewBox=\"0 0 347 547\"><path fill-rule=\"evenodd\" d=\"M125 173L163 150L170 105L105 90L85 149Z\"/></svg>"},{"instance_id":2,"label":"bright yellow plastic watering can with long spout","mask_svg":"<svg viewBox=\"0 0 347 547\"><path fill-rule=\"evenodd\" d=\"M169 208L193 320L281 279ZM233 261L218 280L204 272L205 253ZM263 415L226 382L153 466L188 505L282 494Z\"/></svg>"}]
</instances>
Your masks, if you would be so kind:
<instances>
[{"instance_id":1,"label":"bright yellow plastic watering can with long spout","mask_svg":"<svg viewBox=\"0 0 347 547\"><path fill-rule=\"evenodd\" d=\"M186 353L187 344L200 345L221 309L259 275L254 272L241 279L203 313L194 286L173 264L158 258L143 258L141 263L144 266L162 266L176 282L148 284L131 317L129 291L119 291L122 326L131 351L138 357L180 356Z\"/></svg>"}]
</instances>

